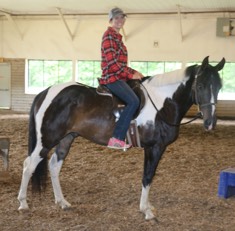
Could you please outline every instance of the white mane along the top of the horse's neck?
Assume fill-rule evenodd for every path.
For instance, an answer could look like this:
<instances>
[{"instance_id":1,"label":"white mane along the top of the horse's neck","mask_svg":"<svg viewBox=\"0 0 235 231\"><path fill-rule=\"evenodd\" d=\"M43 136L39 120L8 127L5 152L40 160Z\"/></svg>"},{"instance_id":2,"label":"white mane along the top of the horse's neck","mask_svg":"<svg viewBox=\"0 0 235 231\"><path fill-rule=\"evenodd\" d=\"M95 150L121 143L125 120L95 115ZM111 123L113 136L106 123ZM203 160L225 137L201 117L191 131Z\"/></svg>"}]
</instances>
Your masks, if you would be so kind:
<instances>
[{"instance_id":1,"label":"white mane along the top of the horse's neck","mask_svg":"<svg viewBox=\"0 0 235 231\"><path fill-rule=\"evenodd\" d=\"M166 72L164 74L157 74L149 78L151 85L155 87L165 86L175 83L180 83L185 81L187 75L185 74L185 69L178 69L171 72Z\"/></svg>"}]
</instances>

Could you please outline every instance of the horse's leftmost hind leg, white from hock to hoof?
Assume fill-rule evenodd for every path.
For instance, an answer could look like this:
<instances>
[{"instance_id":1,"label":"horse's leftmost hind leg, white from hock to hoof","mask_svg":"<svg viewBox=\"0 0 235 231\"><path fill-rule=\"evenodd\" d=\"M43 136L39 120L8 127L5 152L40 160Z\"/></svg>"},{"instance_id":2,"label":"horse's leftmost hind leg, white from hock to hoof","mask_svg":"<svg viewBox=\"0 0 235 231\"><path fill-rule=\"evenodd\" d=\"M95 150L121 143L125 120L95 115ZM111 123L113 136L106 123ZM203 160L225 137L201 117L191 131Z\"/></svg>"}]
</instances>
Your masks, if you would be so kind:
<instances>
[{"instance_id":1,"label":"horse's leftmost hind leg, white from hock to hoof","mask_svg":"<svg viewBox=\"0 0 235 231\"><path fill-rule=\"evenodd\" d=\"M35 171L39 162L42 160L42 157L40 157L40 150L41 149L36 147L33 153L24 161L22 181L18 195L18 200L20 202L20 207L18 210L29 208L27 203L27 188L33 172Z\"/></svg>"}]
</instances>

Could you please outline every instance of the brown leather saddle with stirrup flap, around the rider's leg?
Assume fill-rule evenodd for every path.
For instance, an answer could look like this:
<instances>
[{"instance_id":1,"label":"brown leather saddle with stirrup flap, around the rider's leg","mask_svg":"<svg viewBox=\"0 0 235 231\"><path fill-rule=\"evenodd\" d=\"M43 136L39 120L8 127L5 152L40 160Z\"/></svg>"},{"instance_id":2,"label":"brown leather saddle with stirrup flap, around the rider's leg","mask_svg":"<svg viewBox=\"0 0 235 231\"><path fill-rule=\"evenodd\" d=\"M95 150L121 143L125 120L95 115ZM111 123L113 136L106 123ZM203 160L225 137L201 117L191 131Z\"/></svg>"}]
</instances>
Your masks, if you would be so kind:
<instances>
[{"instance_id":1,"label":"brown leather saddle with stirrup flap, around the rider's leg","mask_svg":"<svg viewBox=\"0 0 235 231\"><path fill-rule=\"evenodd\" d=\"M127 84L132 88L132 90L135 92L137 97L140 100L140 106L137 109L133 120L130 123L129 130L127 132L127 143L131 144L133 147L141 147L140 144L140 138L139 138L139 132L137 128L136 118L139 115L140 111L144 107L145 104L145 95L142 89L140 88L140 81L139 80L129 80ZM123 101L121 101L118 97L114 96L111 91L105 87L104 85L99 85L96 88L96 92L98 95L111 97L113 101L113 114L116 117L116 121L119 119L120 114L124 110L124 107L126 106Z\"/></svg>"}]
</instances>

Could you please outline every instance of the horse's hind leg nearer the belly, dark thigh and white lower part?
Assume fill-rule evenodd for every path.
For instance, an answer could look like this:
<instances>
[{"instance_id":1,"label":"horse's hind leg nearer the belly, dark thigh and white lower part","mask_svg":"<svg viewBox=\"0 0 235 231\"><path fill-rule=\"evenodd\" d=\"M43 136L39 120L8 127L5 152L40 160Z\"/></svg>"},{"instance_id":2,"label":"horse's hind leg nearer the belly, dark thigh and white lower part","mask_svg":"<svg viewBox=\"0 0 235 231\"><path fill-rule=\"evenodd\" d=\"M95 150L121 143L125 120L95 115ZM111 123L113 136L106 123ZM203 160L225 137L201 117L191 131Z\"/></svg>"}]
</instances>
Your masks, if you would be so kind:
<instances>
[{"instance_id":1,"label":"horse's hind leg nearer the belly, dark thigh and white lower part","mask_svg":"<svg viewBox=\"0 0 235 231\"><path fill-rule=\"evenodd\" d=\"M55 203L59 204L62 209L69 208L71 205L64 199L59 174L61 167L63 165L64 159L67 156L70 146L76 137L75 134L71 133L65 136L60 143L57 145L55 152L52 154L50 162L49 162L49 170L51 174L51 181L55 196Z\"/></svg>"}]
</instances>

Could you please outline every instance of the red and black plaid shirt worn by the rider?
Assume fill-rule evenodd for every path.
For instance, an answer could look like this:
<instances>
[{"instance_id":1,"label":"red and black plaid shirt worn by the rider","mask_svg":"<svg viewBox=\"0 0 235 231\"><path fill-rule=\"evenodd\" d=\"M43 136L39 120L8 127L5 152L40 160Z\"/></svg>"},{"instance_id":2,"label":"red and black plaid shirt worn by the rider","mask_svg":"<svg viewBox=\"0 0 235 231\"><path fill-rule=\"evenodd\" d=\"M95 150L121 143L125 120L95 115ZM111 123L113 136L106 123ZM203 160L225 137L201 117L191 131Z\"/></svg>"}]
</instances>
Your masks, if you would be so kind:
<instances>
[{"instance_id":1,"label":"red and black plaid shirt worn by the rider","mask_svg":"<svg viewBox=\"0 0 235 231\"><path fill-rule=\"evenodd\" d=\"M122 35L112 27L105 31L101 44L100 84L113 83L119 79L127 81L133 78L135 70L127 66L127 49L122 42Z\"/></svg>"}]
</instances>

